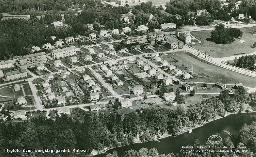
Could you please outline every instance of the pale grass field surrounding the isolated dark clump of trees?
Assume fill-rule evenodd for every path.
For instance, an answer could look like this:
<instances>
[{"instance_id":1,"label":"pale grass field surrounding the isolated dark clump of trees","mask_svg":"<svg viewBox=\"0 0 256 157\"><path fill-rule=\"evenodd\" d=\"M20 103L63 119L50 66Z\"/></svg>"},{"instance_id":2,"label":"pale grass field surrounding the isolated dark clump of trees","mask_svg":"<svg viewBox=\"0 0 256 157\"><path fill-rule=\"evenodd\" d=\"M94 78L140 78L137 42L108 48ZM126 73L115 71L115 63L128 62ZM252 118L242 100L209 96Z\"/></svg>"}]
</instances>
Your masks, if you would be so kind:
<instances>
[{"instance_id":1,"label":"pale grass field surrounding the isolated dark clump of trees","mask_svg":"<svg viewBox=\"0 0 256 157\"><path fill-rule=\"evenodd\" d=\"M211 30L191 32L194 37L202 42L200 44L192 44L192 47L215 58L233 56L238 53L250 54L256 51L256 48L251 48L256 41L256 35L250 34L250 32L256 31L256 27L241 28L240 30L243 32L241 39L244 40L244 43L240 43L240 39L235 39L233 43L222 45L207 41L207 38L211 37Z\"/></svg>"}]
</instances>

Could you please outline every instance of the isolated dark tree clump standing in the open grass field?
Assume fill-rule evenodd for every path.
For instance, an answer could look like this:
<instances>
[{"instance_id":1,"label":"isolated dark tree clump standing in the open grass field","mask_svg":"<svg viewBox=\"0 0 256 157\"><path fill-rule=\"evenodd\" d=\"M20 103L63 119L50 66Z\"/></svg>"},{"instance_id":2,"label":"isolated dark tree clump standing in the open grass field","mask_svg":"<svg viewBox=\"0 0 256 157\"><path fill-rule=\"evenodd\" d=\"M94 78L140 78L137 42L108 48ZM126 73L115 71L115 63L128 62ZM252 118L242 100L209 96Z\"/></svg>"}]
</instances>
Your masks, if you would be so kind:
<instances>
[{"instance_id":1,"label":"isolated dark tree clump standing in the open grass field","mask_svg":"<svg viewBox=\"0 0 256 157\"><path fill-rule=\"evenodd\" d=\"M224 24L215 26L215 30L211 32L211 40L217 44L228 44L234 42L235 38L242 36L242 31L237 28L225 28Z\"/></svg>"}]
</instances>

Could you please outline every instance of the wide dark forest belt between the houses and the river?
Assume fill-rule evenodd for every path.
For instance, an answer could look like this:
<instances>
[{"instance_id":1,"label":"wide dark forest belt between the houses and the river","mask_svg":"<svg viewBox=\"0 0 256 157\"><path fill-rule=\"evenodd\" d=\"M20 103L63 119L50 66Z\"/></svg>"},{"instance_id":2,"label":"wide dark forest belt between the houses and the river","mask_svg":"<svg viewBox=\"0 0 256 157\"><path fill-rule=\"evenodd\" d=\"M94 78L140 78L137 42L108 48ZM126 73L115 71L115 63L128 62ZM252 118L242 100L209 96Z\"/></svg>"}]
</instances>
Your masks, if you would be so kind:
<instances>
[{"instance_id":1,"label":"wide dark forest belt between the houses and the river","mask_svg":"<svg viewBox=\"0 0 256 157\"><path fill-rule=\"evenodd\" d=\"M150 141L164 133L177 135L184 129L204 124L217 117L224 117L226 112L242 112L244 103L255 106L256 92L248 97L246 90L239 87L232 97L228 93L224 90L218 97L189 105L187 110L183 106L178 106L176 109L152 106L119 116L85 112L82 123L68 118L67 115L56 117L55 121L44 117L24 123L7 121L0 124L0 147L79 148L91 152L93 149L102 150L106 147L129 145L134 139L142 142ZM255 144L250 143L250 146L255 147ZM10 156L10 154L3 152L1 148L0 156ZM15 156L49 156L49 154L22 152Z\"/></svg>"}]
</instances>

